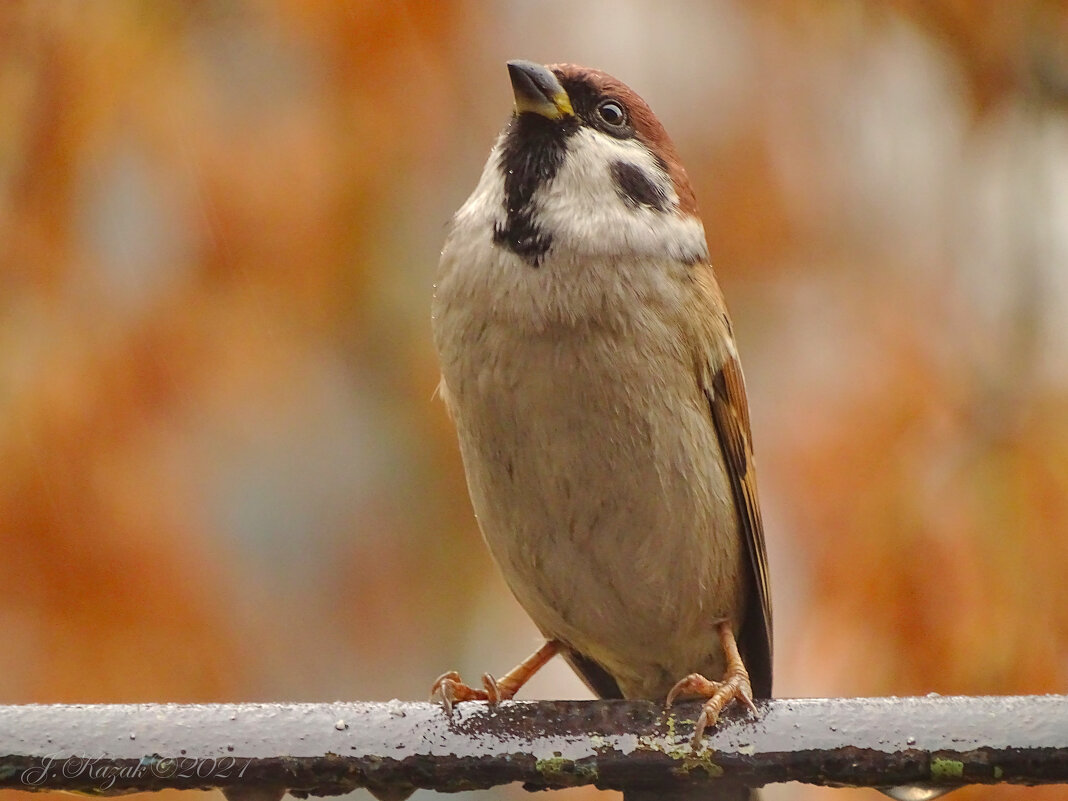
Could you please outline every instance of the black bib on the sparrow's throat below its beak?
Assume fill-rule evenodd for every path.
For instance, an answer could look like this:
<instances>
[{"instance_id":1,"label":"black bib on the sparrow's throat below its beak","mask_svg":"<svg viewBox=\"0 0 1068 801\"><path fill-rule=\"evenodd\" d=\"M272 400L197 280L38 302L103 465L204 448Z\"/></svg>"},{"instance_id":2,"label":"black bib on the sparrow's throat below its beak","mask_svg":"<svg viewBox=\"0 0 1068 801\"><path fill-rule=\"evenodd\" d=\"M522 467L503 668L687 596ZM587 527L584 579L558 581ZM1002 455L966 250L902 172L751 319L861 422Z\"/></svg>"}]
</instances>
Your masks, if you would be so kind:
<instances>
[{"instance_id":1,"label":"black bib on the sparrow's throat below its beak","mask_svg":"<svg viewBox=\"0 0 1068 801\"><path fill-rule=\"evenodd\" d=\"M508 125L498 169L504 175L503 223L493 226L493 242L537 267L552 247L552 235L534 219L534 192L560 172L567 139L578 129L574 117L548 120L519 114Z\"/></svg>"}]
</instances>

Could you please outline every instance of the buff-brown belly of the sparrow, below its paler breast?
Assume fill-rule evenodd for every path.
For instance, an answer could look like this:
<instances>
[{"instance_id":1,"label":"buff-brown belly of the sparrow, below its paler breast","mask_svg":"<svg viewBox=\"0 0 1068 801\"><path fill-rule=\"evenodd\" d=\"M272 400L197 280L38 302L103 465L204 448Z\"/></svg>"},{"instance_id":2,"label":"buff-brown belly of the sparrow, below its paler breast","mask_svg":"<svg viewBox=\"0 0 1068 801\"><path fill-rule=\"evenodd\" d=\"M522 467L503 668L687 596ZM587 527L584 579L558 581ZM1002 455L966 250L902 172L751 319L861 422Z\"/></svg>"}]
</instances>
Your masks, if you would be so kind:
<instances>
[{"instance_id":1,"label":"buff-brown belly of the sparrow, below its paler breast","mask_svg":"<svg viewBox=\"0 0 1068 801\"><path fill-rule=\"evenodd\" d=\"M718 675L714 624L738 621L745 554L692 366L595 334L496 341L445 379L475 513L516 597L628 696Z\"/></svg>"}]
</instances>

